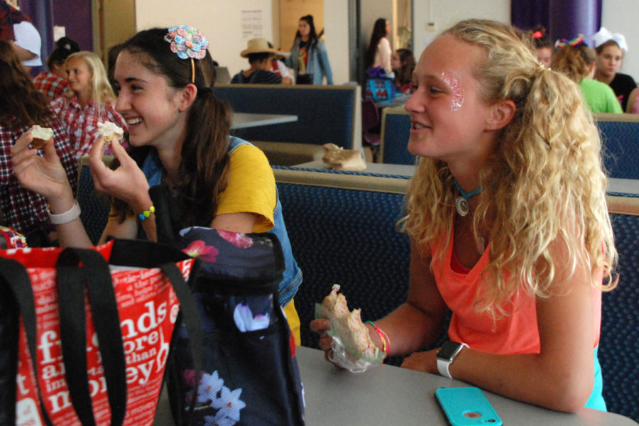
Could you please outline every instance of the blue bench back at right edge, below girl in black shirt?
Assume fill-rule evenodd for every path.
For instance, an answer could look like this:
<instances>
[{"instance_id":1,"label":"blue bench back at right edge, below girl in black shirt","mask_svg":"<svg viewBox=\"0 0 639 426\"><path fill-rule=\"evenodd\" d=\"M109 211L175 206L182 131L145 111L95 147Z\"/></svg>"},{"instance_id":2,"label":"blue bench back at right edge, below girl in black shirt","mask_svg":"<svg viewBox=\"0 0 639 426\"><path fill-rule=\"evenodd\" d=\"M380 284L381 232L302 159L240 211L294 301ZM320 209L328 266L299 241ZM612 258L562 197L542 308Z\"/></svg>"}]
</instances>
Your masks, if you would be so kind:
<instances>
[{"instance_id":1,"label":"blue bench back at right edge, below girl in black shirt","mask_svg":"<svg viewBox=\"0 0 639 426\"><path fill-rule=\"evenodd\" d=\"M639 114L594 114L611 178L639 179Z\"/></svg>"}]
</instances>

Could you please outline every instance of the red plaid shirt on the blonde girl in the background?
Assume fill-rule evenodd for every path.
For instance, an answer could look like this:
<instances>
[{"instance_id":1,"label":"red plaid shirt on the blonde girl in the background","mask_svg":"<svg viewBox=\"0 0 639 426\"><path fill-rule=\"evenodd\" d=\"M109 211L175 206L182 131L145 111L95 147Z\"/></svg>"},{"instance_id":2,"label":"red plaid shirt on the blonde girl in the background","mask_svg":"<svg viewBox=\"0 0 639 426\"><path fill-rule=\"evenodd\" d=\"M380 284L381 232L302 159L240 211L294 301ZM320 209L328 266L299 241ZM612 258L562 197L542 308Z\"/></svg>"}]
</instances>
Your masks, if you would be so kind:
<instances>
[{"instance_id":1,"label":"red plaid shirt on the blonde girl in the background","mask_svg":"<svg viewBox=\"0 0 639 426\"><path fill-rule=\"evenodd\" d=\"M75 159L82 155L89 155L94 142L98 137L98 121L112 121L124 131L129 128L126 121L113 107L109 105L96 105L90 101L84 108L80 107L77 96L67 99L59 97L51 101L51 108L58 114L64 124ZM107 151L108 152L108 151Z\"/></svg>"}]
</instances>

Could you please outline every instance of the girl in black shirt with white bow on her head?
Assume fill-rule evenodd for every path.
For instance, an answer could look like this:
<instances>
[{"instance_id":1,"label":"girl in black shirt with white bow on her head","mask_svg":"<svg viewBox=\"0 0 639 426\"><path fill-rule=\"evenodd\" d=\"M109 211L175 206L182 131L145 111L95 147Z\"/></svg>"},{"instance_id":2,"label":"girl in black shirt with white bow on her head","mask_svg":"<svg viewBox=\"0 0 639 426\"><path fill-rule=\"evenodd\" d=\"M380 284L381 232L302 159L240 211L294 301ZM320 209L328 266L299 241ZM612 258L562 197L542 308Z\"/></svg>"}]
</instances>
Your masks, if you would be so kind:
<instances>
[{"instance_id":1,"label":"girl in black shirt with white bow on her head","mask_svg":"<svg viewBox=\"0 0 639 426\"><path fill-rule=\"evenodd\" d=\"M606 28L601 27L593 36L595 50L597 53L596 80L608 84L615 92L621 108L626 111L628 107L628 97L633 89L637 88L637 83L633 77L621 74L623 55L628 52L626 38L619 33L611 33Z\"/></svg>"}]
</instances>

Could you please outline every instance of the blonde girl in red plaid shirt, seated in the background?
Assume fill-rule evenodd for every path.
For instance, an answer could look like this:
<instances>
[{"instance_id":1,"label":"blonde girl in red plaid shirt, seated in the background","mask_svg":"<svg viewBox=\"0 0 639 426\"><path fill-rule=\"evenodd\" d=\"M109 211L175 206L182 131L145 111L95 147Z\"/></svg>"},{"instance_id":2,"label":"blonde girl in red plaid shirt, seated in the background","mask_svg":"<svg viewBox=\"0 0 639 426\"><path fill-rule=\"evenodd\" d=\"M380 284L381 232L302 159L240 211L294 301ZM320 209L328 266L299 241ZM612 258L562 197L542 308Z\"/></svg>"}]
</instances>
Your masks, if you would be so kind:
<instances>
[{"instance_id":1,"label":"blonde girl in red plaid shirt, seated in the background","mask_svg":"<svg viewBox=\"0 0 639 426\"><path fill-rule=\"evenodd\" d=\"M111 121L127 130L115 109L115 94L102 61L92 52L81 51L67 58L67 81L75 93L51 102L51 108L65 125L76 159L89 155L97 140L99 121ZM110 152L108 152L110 153Z\"/></svg>"}]
</instances>

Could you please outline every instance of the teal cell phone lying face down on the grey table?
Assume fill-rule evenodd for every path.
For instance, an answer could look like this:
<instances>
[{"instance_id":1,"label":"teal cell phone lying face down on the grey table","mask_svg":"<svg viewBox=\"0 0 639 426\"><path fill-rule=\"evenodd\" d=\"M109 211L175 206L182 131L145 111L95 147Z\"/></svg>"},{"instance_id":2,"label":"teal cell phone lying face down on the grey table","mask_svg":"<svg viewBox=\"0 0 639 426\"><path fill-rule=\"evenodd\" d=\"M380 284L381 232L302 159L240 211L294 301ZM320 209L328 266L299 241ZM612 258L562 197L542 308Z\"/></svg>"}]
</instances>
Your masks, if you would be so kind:
<instances>
[{"instance_id":1,"label":"teal cell phone lying face down on the grey table","mask_svg":"<svg viewBox=\"0 0 639 426\"><path fill-rule=\"evenodd\" d=\"M503 424L480 388L439 388L435 397L451 426Z\"/></svg>"}]
</instances>

